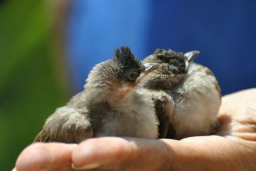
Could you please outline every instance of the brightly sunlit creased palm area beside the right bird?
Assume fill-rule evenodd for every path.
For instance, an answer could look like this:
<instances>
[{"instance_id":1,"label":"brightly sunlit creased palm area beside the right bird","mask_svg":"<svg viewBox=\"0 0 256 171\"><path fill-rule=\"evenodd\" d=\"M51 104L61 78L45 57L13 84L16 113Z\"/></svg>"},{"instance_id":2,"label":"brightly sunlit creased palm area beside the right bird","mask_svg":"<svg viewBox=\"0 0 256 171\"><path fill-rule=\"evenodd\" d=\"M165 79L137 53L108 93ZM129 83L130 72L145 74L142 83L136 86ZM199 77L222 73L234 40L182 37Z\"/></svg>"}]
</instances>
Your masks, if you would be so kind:
<instances>
[{"instance_id":1,"label":"brightly sunlit creased palm area beside the right bird","mask_svg":"<svg viewBox=\"0 0 256 171\"><path fill-rule=\"evenodd\" d=\"M256 89L248 89L224 96L218 115L221 127L216 135L234 135L245 140L254 140L253 133L256 133L255 97Z\"/></svg>"}]
</instances>

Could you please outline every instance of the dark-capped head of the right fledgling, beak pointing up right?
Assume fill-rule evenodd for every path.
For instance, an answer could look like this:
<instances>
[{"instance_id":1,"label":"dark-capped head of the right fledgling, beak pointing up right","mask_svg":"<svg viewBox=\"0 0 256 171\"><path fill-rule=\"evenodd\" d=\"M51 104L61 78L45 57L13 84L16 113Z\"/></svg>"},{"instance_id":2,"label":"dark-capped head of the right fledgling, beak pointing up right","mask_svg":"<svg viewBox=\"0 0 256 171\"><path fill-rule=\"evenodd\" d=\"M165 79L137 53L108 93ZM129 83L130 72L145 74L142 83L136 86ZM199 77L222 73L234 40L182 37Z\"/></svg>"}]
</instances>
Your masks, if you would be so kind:
<instances>
[{"instance_id":1,"label":"dark-capped head of the right fledgling, beak pointing up right","mask_svg":"<svg viewBox=\"0 0 256 171\"><path fill-rule=\"evenodd\" d=\"M161 68L150 73L146 85L161 88L170 88L184 79L189 65L193 62L199 51L191 51L186 54L168 49L157 49L154 54L146 57L143 63L158 63Z\"/></svg>"}]
</instances>

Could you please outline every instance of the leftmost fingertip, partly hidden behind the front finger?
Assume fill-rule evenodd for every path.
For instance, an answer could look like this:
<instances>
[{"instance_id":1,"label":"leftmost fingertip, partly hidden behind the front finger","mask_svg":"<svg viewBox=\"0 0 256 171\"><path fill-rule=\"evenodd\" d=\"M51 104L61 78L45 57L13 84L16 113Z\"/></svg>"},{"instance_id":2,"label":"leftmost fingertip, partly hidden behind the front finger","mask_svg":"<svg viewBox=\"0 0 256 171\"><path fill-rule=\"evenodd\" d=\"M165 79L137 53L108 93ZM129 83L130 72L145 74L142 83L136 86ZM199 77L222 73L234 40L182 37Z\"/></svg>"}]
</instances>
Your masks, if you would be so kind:
<instances>
[{"instance_id":1,"label":"leftmost fingertip, partly hidden behind the front finger","mask_svg":"<svg viewBox=\"0 0 256 171\"><path fill-rule=\"evenodd\" d=\"M16 162L19 171L72 170L72 152L77 145L36 143L21 152Z\"/></svg>"}]
</instances>

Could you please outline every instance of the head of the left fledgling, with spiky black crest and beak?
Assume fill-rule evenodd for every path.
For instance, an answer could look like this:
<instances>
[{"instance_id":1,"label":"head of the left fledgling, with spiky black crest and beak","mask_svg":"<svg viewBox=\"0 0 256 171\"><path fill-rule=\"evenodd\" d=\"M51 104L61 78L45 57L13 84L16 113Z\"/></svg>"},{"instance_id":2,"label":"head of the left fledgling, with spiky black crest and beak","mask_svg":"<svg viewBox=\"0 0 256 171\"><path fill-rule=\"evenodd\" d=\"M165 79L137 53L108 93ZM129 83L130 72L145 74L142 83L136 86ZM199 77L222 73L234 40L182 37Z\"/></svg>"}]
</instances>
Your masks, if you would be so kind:
<instances>
[{"instance_id":1,"label":"head of the left fledgling, with spiky black crest and beak","mask_svg":"<svg viewBox=\"0 0 256 171\"><path fill-rule=\"evenodd\" d=\"M129 47L120 47L115 50L112 59L93 67L84 88L90 91L94 102L108 99L115 103L134 87L140 87L145 76L158 68L160 65L156 63L141 63Z\"/></svg>"}]
</instances>

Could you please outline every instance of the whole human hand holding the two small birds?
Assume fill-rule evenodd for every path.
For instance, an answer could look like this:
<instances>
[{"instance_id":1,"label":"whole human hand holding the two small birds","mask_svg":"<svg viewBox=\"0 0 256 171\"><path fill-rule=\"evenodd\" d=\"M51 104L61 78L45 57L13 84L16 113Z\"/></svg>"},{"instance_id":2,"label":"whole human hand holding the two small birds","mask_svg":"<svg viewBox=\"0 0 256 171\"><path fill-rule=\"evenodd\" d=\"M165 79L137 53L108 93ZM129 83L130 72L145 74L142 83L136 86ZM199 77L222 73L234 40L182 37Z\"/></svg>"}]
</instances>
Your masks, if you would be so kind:
<instances>
[{"instance_id":1,"label":"whole human hand holding the two small birds","mask_svg":"<svg viewBox=\"0 0 256 171\"><path fill-rule=\"evenodd\" d=\"M20 153L17 171L255 170L256 89L223 96L216 135L182 140L90 138L81 144L36 143Z\"/></svg>"}]
</instances>

